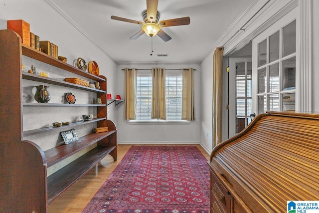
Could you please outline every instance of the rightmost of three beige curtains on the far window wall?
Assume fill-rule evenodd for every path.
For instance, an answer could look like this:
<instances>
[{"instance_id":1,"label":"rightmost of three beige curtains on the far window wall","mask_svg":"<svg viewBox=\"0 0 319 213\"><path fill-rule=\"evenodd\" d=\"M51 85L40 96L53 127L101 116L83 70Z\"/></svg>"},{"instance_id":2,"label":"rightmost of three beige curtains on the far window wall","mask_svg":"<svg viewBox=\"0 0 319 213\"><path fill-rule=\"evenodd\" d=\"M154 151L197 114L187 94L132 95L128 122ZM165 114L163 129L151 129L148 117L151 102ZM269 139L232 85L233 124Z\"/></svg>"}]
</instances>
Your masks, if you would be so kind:
<instances>
[{"instance_id":1,"label":"rightmost of three beige curtains on the far window wall","mask_svg":"<svg viewBox=\"0 0 319 213\"><path fill-rule=\"evenodd\" d=\"M183 90L181 102L181 119L194 121L194 76L193 69L182 69Z\"/></svg>"}]
</instances>

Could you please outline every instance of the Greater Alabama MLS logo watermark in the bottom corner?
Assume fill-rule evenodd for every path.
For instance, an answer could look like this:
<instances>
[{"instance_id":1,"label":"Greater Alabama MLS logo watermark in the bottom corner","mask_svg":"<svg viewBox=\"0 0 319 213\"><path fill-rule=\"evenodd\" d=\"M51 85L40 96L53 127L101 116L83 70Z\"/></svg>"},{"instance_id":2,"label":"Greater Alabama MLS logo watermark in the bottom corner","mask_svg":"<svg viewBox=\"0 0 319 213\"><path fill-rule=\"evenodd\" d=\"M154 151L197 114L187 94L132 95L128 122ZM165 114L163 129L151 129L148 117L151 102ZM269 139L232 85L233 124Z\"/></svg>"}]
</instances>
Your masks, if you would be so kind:
<instances>
[{"instance_id":1,"label":"Greater Alabama MLS logo watermark in the bottom corner","mask_svg":"<svg viewBox=\"0 0 319 213\"><path fill-rule=\"evenodd\" d=\"M319 201L287 201L287 213L319 213Z\"/></svg>"}]
</instances>

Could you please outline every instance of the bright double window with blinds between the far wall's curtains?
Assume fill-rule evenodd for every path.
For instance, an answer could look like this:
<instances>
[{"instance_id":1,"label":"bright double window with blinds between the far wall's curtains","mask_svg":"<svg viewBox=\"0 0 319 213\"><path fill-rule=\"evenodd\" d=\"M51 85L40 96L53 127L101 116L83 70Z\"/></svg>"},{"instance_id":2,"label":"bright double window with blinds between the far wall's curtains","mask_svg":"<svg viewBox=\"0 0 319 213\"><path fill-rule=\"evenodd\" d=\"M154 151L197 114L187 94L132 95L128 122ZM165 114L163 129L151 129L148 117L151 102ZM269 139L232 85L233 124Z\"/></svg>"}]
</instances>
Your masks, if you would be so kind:
<instances>
[{"instance_id":1,"label":"bright double window with blinds between the far wall's curtains","mask_svg":"<svg viewBox=\"0 0 319 213\"><path fill-rule=\"evenodd\" d=\"M166 120L181 121L182 75L166 74ZM152 75L138 74L136 120L151 121Z\"/></svg>"}]
</instances>

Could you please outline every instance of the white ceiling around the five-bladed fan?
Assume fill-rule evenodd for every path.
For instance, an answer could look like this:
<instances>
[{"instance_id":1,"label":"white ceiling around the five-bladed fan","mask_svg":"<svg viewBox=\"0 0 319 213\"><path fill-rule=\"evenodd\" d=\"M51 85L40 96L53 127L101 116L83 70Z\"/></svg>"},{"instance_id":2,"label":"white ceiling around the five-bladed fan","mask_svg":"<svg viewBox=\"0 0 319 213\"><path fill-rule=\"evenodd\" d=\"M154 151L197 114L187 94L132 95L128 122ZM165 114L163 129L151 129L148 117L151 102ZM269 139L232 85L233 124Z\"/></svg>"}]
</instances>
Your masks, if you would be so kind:
<instances>
[{"instance_id":1,"label":"white ceiling around the five-bladed fan","mask_svg":"<svg viewBox=\"0 0 319 213\"><path fill-rule=\"evenodd\" d=\"M116 63L200 63L251 0L159 0L160 20L189 16L190 24L165 27L164 42L143 34L129 39L141 25L111 19L111 15L143 21L146 0L51 0ZM168 54L159 57L157 54Z\"/></svg>"}]
</instances>

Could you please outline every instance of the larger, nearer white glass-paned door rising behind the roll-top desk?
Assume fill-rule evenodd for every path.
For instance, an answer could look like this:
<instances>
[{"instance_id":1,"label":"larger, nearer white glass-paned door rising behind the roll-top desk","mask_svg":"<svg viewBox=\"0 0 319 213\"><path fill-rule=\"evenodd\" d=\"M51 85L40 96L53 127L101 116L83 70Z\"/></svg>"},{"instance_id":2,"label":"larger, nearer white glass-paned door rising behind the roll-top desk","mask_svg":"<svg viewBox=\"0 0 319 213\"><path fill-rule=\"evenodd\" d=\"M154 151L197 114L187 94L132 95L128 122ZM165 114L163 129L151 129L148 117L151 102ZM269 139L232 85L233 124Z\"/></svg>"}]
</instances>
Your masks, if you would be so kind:
<instances>
[{"instance_id":1,"label":"larger, nearer white glass-paned door rising behind the roll-top desk","mask_svg":"<svg viewBox=\"0 0 319 213\"><path fill-rule=\"evenodd\" d=\"M289 18L279 20L253 40L258 114L295 110L296 19Z\"/></svg>"}]
</instances>

